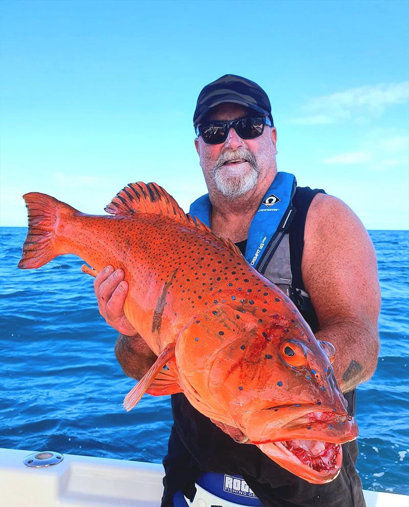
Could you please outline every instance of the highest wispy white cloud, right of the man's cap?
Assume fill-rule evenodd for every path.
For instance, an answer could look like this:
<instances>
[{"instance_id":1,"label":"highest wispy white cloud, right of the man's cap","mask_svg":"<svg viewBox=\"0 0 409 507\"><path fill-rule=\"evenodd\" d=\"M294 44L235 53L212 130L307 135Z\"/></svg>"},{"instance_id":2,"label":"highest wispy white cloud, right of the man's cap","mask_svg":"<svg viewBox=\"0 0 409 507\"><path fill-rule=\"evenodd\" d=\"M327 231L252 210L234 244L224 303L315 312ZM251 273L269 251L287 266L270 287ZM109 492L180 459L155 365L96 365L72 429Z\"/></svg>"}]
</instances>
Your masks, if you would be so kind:
<instances>
[{"instance_id":1,"label":"highest wispy white cloud, right of the man's cap","mask_svg":"<svg viewBox=\"0 0 409 507\"><path fill-rule=\"evenodd\" d=\"M379 116L386 107L403 104L409 99L409 82L360 86L331 95L310 99L303 116L292 123L326 125L350 119Z\"/></svg>"}]
</instances>

